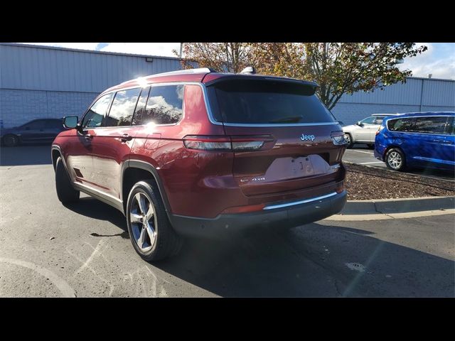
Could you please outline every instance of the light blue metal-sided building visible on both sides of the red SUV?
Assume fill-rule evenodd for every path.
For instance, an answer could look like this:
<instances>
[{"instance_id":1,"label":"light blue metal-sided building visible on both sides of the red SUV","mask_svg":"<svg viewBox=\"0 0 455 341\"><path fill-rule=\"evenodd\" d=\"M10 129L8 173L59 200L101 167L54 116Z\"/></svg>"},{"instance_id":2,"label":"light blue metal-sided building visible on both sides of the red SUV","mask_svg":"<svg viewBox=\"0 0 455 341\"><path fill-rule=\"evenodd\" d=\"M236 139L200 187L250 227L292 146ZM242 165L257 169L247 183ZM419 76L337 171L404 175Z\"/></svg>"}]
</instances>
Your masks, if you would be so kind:
<instances>
[{"instance_id":1,"label":"light blue metal-sided building visible on both sides of the red SUV","mask_svg":"<svg viewBox=\"0 0 455 341\"><path fill-rule=\"evenodd\" d=\"M0 124L80 116L112 85L180 68L178 58L0 43ZM351 124L375 113L449 110L455 80L410 77L385 90L345 94L332 112Z\"/></svg>"}]
</instances>

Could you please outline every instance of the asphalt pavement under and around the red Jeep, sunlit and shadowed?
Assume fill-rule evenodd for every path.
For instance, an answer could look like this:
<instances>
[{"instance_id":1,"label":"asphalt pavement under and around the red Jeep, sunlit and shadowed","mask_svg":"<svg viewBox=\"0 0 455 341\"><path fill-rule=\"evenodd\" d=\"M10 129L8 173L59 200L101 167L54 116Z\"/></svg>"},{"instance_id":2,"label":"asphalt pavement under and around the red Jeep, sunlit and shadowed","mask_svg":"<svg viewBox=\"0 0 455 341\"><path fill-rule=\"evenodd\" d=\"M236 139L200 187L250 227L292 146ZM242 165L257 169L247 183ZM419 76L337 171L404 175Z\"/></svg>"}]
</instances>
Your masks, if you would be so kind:
<instances>
[{"instance_id":1,"label":"asphalt pavement under and around the red Jeep, sunlit and shadowed","mask_svg":"<svg viewBox=\"0 0 455 341\"><path fill-rule=\"evenodd\" d=\"M142 261L123 215L55 194L50 147L0 149L0 296L454 297L454 215L323 220Z\"/></svg>"}]
</instances>

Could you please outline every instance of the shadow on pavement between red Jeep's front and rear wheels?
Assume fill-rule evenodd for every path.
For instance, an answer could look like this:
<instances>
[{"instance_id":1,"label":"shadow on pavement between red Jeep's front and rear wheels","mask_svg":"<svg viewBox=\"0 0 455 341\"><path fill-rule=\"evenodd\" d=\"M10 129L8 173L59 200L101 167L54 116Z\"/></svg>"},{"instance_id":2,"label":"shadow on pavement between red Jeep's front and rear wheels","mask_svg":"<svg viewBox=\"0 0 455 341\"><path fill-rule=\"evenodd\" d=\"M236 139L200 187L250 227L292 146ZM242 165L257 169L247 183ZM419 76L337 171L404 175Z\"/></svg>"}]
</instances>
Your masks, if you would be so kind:
<instances>
[{"instance_id":1,"label":"shadow on pavement between red Jeep's front and rear wheels","mask_svg":"<svg viewBox=\"0 0 455 341\"><path fill-rule=\"evenodd\" d=\"M122 212L119 212L119 210L114 207L111 207L94 197L81 197L76 202L70 202L64 204L64 206L77 214L85 215L85 217L90 217L96 220L107 220L122 229L122 232L117 234L97 234L96 232L93 232L90 234L92 237L119 236L124 239L129 239L127 221L125 220L124 215L122 215Z\"/></svg>"}]
</instances>

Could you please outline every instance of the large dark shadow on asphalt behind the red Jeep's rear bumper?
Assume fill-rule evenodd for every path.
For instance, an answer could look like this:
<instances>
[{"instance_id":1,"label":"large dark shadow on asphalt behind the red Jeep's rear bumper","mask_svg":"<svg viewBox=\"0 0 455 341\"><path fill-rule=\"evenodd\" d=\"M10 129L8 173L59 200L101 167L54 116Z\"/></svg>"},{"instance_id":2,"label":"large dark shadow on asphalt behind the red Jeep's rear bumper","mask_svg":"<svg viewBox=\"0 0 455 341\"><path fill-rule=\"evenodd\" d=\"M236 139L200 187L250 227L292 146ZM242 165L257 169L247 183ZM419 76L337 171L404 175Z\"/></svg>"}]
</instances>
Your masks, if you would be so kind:
<instances>
[{"instance_id":1,"label":"large dark shadow on asphalt behind the red Jeep's rear bumper","mask_svg":"<svg viewBox=\"0 0 455 341\"><path fill-rule=\"evenodd\" d=\"M362 229L309 224L217 242L188 239L153 264L228 297L454 297L454 261Z\"/></svg>"}]
</instances>

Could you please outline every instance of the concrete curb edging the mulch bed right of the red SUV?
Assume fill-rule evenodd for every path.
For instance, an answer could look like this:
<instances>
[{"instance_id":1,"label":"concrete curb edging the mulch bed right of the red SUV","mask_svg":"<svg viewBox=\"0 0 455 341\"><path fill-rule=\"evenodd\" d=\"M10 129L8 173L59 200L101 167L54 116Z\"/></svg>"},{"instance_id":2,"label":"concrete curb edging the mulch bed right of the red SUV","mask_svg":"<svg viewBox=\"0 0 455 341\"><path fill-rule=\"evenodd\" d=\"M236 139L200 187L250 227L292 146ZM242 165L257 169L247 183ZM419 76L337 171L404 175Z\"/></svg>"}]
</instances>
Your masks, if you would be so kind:
<instances>
[{"instance_id":1,"label":"concrete curb edging the mulch bed right of the red SUV","mask_svg":"<svg viewBox=\"0 0 455 341\"><path fill-rule=\"evenodd\" d=\"M412 197L385 200L348 200L342 215L373 215L420 212L429 210L453 210L455 197Z\"/></svg>"}]
</instances>

